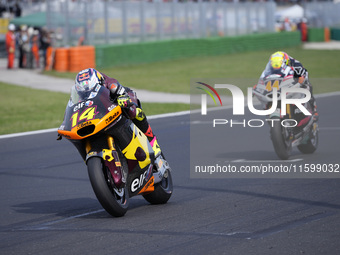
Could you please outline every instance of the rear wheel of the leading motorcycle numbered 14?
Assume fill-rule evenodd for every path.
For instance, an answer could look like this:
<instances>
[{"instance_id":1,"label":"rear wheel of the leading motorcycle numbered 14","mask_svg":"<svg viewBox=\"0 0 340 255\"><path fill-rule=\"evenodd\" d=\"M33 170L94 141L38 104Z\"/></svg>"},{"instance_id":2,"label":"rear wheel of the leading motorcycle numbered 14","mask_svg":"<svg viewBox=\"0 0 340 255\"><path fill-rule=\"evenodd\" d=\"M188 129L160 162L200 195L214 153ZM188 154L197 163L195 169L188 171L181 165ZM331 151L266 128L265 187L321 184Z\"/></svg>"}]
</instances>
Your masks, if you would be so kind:
<instances>
[{"instance_id":1,"label":"rear wheel of the leading motorcycle numbered 14","mask_svg":"<svg viewBox=\"0 0 340 255\"><path fill-rule=\"evenodd\" d=\"M143 195L150 204L165 204L172 195L173 185L170 170L166 170L162 180L155 184L155 190Z\"/></svg>"}]
</instances>

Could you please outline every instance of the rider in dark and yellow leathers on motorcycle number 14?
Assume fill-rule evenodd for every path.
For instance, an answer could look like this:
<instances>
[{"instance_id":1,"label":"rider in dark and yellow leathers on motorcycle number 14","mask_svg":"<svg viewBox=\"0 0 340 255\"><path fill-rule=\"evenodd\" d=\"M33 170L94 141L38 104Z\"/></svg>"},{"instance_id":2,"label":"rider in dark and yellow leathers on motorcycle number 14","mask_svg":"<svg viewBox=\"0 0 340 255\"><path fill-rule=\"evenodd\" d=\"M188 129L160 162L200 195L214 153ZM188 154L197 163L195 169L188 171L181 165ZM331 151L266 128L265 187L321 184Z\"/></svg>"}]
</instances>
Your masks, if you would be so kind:
<instances>
[{"instance_id":1,"label":"rider in dark and yellow leathers on motorcycle number 14","mask_svg":"<svg viewBox=\"0 0 340 255\"><path fill-rule=\"evenodd\" d=\"M110 90L111 99L117 100L118 105L122 107L123 111L127 113L133 123L146 135L157 158L161 153L161 149L142 110L136 93L130 88L122 86L116 79L100 73L93 68L80 71L75 79L75 85L80 89L84 86L94 88L97 84L105 86Z\"/></svg>"}]
</instances>

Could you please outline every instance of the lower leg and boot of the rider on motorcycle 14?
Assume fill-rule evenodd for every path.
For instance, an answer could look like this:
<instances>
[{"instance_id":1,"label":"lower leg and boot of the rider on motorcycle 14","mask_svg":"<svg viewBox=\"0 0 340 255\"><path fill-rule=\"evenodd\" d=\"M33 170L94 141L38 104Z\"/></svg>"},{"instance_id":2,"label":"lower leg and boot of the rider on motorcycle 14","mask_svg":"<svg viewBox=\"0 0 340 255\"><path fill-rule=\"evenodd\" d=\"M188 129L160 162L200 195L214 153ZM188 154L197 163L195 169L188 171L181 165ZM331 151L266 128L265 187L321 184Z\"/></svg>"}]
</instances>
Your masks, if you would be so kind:
<instances>
[{"instance_id":1,"label":"lower leg and boot of the rider on motorcycle 14","mask_svg":"<svg viewBox=\"0 0 340 255\"><path fill-rule=\"evenodd\" d=\"M158 144L157 138L152 132L151 126L145 116L144 111L137 107L136 109L136 117L133 119L133 123L146 135L148 138L152 149L155 153L155 158L161 155L161 147Z\"/></svg>"}]
</instances>

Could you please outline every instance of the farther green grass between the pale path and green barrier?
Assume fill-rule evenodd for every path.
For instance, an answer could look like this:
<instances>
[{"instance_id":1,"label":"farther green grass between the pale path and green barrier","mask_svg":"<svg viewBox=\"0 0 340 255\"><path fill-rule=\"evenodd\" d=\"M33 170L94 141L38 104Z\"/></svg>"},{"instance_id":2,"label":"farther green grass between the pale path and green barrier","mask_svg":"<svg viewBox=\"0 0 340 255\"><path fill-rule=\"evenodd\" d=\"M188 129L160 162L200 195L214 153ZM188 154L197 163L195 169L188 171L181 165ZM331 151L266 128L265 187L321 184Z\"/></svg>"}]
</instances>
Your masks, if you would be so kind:
<instances>
[{"instance_id":1,"label":"farther green grass between the pale path and green barrier","mask_svg":"<svg viewBox=\"0 0 340 255\"><path fill-rule=\"evenodd\" d=\"M301 47L278 50L284 50L302 62L310 73L315 93L340 90L339 50L303 50ZM183 58L102 68L99 71L115 77L125 86L152 91L188 94L191 78L233 78L231 80L235 85L245 91L247 87L252 87L257 82L273 52L273 50L261 50L222 56ZM48 74L72 79L76 75L76 73L57 72Z\"/></svg>"}]
</instances>

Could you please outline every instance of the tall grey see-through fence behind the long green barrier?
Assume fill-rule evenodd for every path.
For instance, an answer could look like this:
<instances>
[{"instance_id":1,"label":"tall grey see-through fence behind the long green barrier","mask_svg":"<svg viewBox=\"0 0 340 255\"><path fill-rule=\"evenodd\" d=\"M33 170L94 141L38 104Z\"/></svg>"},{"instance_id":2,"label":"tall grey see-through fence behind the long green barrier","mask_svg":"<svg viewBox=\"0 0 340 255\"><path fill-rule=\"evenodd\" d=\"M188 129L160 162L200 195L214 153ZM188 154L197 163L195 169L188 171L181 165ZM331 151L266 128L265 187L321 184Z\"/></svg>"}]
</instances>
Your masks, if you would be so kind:
<instances>
[{"instance_id":1,"label":"tall grey see-through fence behind the long green barrier","mask_svg":"<svg viewBox=\"0 0 340 255\"><path fill-rule=\"evenodd\" d=\"M127 44L274 31L274 2L46 1L56 45ZM81 39L82 40L82 39Z\"/></svg>"}]
</instances>

